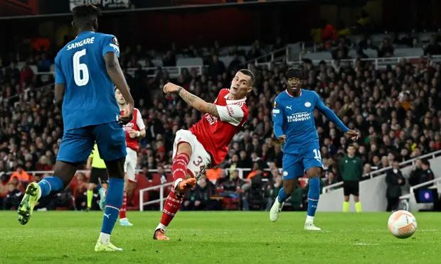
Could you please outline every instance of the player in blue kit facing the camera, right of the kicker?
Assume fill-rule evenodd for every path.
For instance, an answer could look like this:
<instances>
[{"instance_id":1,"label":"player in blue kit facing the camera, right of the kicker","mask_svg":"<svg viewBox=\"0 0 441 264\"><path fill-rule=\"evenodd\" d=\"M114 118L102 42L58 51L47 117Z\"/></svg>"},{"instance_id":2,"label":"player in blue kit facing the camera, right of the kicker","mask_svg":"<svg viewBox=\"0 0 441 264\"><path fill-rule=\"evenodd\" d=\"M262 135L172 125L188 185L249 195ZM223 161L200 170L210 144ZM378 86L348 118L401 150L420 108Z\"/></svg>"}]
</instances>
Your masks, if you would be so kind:
<instances>
[{"instance_id":1,"label":"player in blue kit facing the camera, right of the kicker","mask_svg":"<svg viewBox=\"0 0 441 264\"><path fill-rule=\"evenodd\" d=\"M314 226L314 215L320 195L322 157L319 136L314 123L314 109L336 124L349 138L356 140L358 132L350 130L338 116L324 105L319 94L302 89L304 76L301 70L289 68L285 75L287 89L277 95L272 109L274 134L283 144L283 187L270 210L270 220L277 221L285 200L297 187L299 177L307 172L309 177L308 212L305 230L319 231Z\"/></svg>"}]
</instances>

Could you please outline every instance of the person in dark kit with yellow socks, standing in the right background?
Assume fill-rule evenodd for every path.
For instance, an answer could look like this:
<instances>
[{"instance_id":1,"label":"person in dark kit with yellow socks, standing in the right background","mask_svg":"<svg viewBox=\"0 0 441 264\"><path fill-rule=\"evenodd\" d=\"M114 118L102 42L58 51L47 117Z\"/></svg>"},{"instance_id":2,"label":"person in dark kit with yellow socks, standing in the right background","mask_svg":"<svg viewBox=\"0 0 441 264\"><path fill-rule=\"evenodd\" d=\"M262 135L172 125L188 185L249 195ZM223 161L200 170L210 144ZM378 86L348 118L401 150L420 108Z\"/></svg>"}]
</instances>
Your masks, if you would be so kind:
<instances>
[{"instance_id":1,"label":"person in dark kit with yellow socks, standing in the right background","mask_svg":"<svg viewBox=\"0 0 441 264\"><path fill-rule=\"evenodd\" d=\"M358 184L363 176L363 164L361 164L361 159L355 155L354 145L349 145L347 150L348 154L344 155L340 163L344 192L343 212L349 211L349 195L352 194L354 196L355 211L359 213L361 212L361 202L358 199L360 195Z\"/></svg>"}]
</instances>

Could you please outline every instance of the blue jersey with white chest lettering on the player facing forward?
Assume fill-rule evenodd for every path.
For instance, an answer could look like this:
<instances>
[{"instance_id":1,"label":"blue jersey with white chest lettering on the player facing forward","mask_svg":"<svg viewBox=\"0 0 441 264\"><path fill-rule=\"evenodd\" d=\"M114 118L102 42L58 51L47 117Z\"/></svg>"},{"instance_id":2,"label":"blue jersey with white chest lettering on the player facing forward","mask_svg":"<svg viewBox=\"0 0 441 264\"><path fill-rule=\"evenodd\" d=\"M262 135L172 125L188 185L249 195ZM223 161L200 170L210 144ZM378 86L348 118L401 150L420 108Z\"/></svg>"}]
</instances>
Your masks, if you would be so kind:
<instances>
[{"instance_id":1,"label":"blue jersey with white chest lettering on the player facing forward","mask_svg":"<svg viewBox=\"0 0 441 264\"><path fill-rule=\"evenodd\" d=\"M284 152L298 154L302 146L318 141L314 122L314 109L318 109L343 131L349 131L334 111L324 105L319 94L302 89L299 97L292 97L285 90L277 95L272 109L274 133L276 137L286 135Z\"/></svg>"}]
</instances>

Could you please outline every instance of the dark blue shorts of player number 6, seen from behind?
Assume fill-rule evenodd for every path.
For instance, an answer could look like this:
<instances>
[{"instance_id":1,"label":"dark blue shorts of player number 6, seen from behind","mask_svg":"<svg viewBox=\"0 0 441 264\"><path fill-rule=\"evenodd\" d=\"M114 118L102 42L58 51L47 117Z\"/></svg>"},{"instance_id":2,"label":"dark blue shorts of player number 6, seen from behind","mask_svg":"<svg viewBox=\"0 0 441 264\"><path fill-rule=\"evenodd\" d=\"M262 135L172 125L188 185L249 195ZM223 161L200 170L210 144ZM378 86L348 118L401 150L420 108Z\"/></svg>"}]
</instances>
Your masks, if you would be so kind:
<instances>
[{"instance_id":1,"label":"dark blue shorts of player number 6, seen from behind","mask_svg":"<svg viewBox=\"0 0 441 264\"><path fill-rule=\"evenodd\" d=\"M115 121L65 131L57 160L83 163L92 152L95 141L100 157L105 161L117 160L127 155L124 130Z\"/></svg>"}]
</instances>

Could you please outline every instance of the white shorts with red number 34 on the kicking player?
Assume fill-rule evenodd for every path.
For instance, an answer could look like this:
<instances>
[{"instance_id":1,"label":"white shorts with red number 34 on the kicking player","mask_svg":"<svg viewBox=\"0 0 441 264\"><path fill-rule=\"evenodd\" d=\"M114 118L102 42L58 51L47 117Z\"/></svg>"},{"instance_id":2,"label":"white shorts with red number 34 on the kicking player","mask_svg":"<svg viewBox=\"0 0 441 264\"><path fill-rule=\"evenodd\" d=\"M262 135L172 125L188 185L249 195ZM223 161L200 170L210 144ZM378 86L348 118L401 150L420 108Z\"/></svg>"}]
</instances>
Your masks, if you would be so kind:
<instances>
[{"instance_id":1,"label":"white shorts with red number 34 on the kicking player","mask_svg":"<svg viewBox=\"0 0 441 264\"><path fill-rule=\"evenodd\" d=\"M211 156L191 131L181 129L176 132L174 138L173 157L176 155L177 146L182 142L191 145L191 157L187 165L187 170L196 180L199 180L202 175L205 175L208 166L211 164Z\"/></svg>"}]
</instances>

